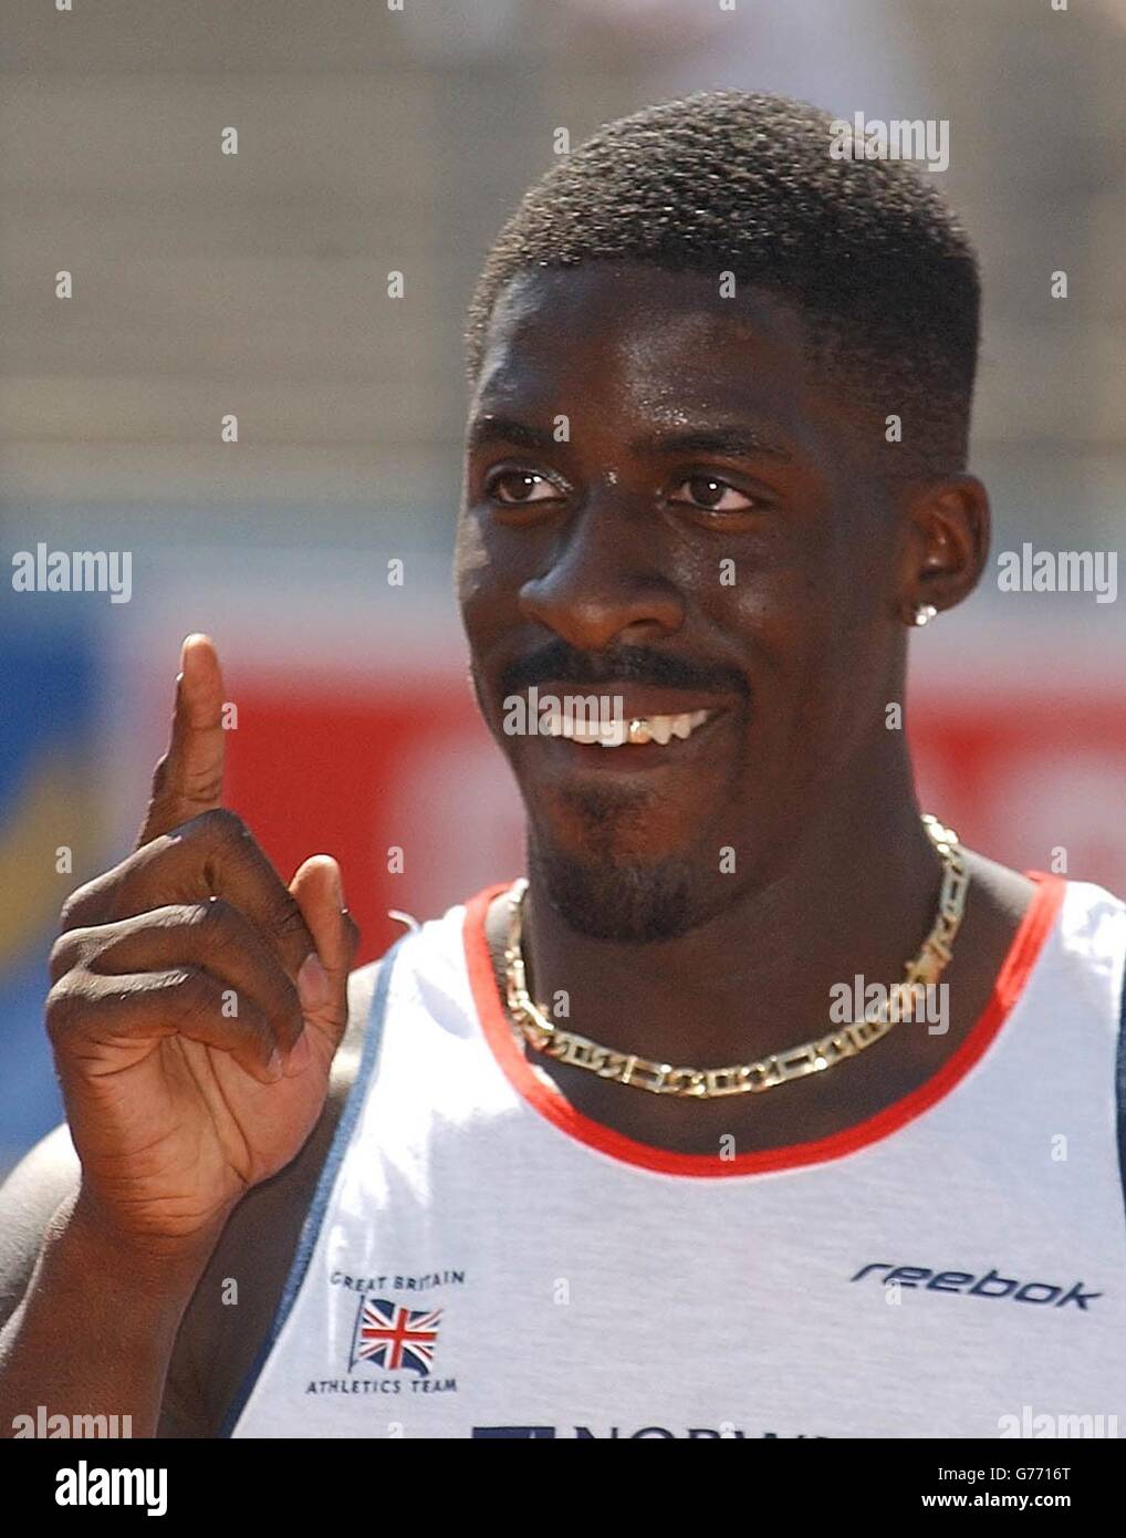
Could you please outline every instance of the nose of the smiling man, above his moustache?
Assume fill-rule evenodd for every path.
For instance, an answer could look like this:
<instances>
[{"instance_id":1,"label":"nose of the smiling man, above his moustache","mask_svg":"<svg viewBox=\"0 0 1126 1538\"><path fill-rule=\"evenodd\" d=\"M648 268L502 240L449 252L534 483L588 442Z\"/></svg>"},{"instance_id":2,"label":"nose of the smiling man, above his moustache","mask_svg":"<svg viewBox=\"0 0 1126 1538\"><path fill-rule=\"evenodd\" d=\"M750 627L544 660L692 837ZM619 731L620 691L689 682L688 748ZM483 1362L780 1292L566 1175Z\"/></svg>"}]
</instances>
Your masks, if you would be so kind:
<instances>
[{"instance_id":1,"label":"nose of the smiling man, above his moustache","mask_svg":"<svg viewBox=\"0 0 1126 1538\"><path fill-rule=\"evenodd\" d=\"M568 523L546 572L520 589L525 618L554 631L577 651L597 652L672 635L685 603L654 569L652 512L632 515L618 498L589 501Z\"/></svg>"}]
</instances>

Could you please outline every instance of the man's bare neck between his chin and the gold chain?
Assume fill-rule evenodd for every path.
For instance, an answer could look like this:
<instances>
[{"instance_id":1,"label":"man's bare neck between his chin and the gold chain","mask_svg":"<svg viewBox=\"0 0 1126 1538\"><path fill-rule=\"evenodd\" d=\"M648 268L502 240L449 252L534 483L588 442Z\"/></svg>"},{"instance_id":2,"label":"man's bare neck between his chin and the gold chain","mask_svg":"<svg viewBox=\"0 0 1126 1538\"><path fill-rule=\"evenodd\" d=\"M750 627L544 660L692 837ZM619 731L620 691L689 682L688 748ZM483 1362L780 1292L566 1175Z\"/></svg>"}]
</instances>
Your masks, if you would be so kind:
<instances>
[{"instance_id":1,"label":"man's bare neck between his chin and the gold chain","mask_svg":"<svg viewBox=\"0 0 1126 1538\"><path fill-rule=\"evenodd\" d=\"M532 880L529 987L548 1004L565 989L560 1023L603 1046L692 1067L749 1061L826 1032L834 984L900 980L940 884L908 775L897 797L869 787L811 820L766 886L677 940L577 934Z\"/></svg>"}]
</instances>

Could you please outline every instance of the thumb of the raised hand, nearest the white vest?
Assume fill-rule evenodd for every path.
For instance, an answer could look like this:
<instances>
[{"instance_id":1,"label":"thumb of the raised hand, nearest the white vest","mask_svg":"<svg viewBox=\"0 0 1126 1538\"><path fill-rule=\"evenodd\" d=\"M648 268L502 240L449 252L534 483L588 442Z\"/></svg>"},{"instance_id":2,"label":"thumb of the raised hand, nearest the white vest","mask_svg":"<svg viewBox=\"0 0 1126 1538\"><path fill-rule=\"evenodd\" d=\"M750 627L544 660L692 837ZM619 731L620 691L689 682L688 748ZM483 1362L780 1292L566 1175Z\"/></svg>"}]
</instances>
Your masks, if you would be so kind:
<instances>
[{"instance_id":1,"label":"thumb of the raised hand, nearest the white vest","mask_svg":"<svg viewBox=\"0 0 1126 1538\"><path fill-rule=\"evenodd\" d=\"M297 974L306 1034L317 1061L328 1066L348 1026L348 974L360 930L345 907L345 884L332 855L312 855L289 883L289 894L317 947Z\"/></svg>"}]
</instances>

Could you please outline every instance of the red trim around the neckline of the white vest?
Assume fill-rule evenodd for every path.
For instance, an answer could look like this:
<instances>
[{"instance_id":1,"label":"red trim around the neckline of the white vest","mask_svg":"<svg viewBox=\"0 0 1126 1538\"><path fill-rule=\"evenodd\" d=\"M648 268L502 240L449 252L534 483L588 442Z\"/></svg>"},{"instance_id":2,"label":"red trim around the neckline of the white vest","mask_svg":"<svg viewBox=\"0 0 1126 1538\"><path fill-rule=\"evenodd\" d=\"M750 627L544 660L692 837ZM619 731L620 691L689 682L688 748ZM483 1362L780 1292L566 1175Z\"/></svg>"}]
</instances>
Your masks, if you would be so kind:
<instances>
[{"instance_id":1,"label":"red trim around the neckline of the white vest","mask_svg":"<svg viewBox=\"0 0 1126 1538\"><path fill-rule=\"evenodd\" d=\"M1044 875L1040 871L1024 874L1037 883L1037 891L1012 937L989 1001L957 1052L926 1083L866 1121L858 1121L843 1132L834 1132L828 1138L792 1143L780 1149L761 1149L757 1154L738 1154L731 1160L715 1154L674 1154L669 1149L652 1147L649 1143L623 1137L623 1134L581 1115L558 1089L548 1087L532 1070L505 1018L492 970L492 957L485 937L485 915L489 903L500 892L506 892L511 881L489 886L466 903L465 950L469 986L485 1040L492 1047L509 1083L534 1110L538 1110L541 1117L580 1143L586 1143L601 1154L609 1154L611 1158L623 1160L626 1164L640 1164L643 1169L657 1170L661 1175L761 1175L771 1170L797 1169L801 1164L820 1164L826 1160L841 1158L844 1154L855 1154L858 1149L898 1132L900 1127L949 1095L983 1057L1020 997L1063 901L1066 881L1061 877Z\"/></svg>"}]
</instances>

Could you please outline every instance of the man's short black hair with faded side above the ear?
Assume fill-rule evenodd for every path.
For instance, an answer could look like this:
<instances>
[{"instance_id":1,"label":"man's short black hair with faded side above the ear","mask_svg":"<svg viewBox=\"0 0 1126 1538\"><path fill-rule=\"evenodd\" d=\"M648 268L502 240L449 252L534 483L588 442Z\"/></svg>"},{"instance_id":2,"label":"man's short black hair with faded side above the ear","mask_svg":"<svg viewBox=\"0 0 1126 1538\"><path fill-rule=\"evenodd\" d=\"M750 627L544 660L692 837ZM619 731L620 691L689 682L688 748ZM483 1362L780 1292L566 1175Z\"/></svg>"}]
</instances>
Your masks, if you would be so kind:
<instances>
[{"instance_id":1,"label":"man's short black hair with faded side above the ear","mask_svg":"<svg viewBox=\"0 0 1126 1538\"><path fill-rule=\"evenodd\" d=\"M886 469L964 469L977 257L932 172L832 158L835 122L788 97L701 91L598 129L528 189L488 255L466 323L471 388L497 297L525 269L729 271L797 306L829 388L901 417Z\"/></svg>"}]
</instances>

